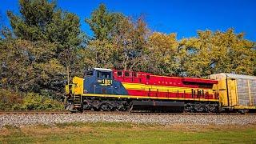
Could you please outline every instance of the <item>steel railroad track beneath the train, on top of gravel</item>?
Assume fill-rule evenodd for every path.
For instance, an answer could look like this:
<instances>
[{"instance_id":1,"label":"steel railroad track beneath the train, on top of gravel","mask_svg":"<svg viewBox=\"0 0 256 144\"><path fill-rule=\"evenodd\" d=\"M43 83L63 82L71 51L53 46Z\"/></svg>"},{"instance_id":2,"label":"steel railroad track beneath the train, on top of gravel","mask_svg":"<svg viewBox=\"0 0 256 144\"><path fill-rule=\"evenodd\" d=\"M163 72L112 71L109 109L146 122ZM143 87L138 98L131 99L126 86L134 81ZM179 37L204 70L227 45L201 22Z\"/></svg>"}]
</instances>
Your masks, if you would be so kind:
<instances>
[{"instance_id":1,"label":"steel railroad track beneath the train, on top of gravel","mask_svg":"<svg viewBox=\"0 0 256 144\"><path fill-rule=\"evenodd\" d=\"M1 114L136 114L136 115L256 115L256 113L152 113L152 112L121 112L121 111L83 111L71 113L70 111L0 111Z\"/></svg>"}]
</instances>

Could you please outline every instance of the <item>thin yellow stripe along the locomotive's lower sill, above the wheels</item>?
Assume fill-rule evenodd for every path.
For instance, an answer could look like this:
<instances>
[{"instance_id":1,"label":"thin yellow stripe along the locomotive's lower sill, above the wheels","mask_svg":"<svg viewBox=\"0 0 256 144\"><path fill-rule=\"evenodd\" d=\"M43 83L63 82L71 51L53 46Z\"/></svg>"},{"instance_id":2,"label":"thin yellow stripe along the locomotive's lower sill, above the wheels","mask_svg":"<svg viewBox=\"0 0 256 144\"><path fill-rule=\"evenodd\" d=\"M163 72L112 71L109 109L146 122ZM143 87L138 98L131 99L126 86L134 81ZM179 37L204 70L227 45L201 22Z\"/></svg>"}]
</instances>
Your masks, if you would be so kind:
<instances>
[{"instance_id":1,"label":"thin yellow stripe along the locomotive's lower sill, above the wheels","mask_svg":"<svg viewBox=\"0 0 256 144\"><path fill-rule=\"evenodd\" d=\"M202 98L162 98L162 97L148 97L136 95L115 95L115 94L82 94L85 97L109 97L109 98L143 98L143 99L169 99L178 101L203 101L203 102L218 102L218 99L202 99Z\"/></svg>"}]
</instances>

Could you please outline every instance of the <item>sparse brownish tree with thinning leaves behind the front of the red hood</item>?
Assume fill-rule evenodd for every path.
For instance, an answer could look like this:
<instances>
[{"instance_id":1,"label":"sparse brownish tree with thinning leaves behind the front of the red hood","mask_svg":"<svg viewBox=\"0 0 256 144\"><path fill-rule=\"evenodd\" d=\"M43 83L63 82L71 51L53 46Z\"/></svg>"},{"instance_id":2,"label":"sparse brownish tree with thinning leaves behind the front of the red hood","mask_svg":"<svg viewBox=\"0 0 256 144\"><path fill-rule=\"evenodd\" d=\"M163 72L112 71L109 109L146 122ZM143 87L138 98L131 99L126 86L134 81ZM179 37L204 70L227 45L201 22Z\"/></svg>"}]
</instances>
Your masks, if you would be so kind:
<instances>
[{"instance_id":1,"label":"sparse brownish tree with thinning leaves behind the front of the red hood","mask_svg":"<svg viewBox=\"0 0 256 144\"><path fill-rule=\"evenodd\" d=\"M142 62L147 49L146 38L149 29L143 17L124 18L113 34L114 46L118 48L114 67L119 70L142 70Z\"/></svg>"}]
</instances>

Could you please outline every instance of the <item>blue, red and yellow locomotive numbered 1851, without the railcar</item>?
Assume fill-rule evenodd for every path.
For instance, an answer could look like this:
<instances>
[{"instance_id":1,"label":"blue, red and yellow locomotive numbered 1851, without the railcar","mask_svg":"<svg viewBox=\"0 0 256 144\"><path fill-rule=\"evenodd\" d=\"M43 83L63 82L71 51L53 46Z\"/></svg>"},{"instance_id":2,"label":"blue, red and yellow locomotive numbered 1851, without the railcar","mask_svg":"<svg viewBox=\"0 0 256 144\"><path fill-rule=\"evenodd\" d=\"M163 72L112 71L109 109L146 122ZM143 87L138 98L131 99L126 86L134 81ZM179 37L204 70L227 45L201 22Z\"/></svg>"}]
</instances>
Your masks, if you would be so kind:
<instances>
[{"instance_id":1,"label":"blue, red and yellow locomotive numbered 1851, without the railcar","mask_svg":"<svg viewBox=\"0 0 256 144\"><path fill-rule=\"evenodd\" d=\"M66 110L128 110L150 103L145 108L213 112L218 108L212 91L216 82L94 68L86 70L84 78L73 79Z\"/></svg>"}]
</instances>

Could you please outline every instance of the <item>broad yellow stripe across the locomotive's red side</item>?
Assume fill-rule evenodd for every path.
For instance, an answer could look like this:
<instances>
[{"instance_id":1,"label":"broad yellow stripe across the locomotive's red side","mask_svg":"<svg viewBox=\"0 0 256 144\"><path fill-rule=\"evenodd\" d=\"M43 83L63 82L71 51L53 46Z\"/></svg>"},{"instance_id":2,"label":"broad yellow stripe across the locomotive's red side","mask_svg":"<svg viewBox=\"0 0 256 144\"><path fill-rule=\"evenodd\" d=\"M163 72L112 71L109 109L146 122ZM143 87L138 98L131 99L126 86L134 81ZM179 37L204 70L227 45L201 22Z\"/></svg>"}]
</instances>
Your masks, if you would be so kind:
<instances>
[{"instance_id":1,"label":"broad yellow stripe across the locomotive's red side","mask_svg":"<svg viewBox=\"0 0 256 144\"><path fill-rule=\"evenodd\" d=\"M210 89L198 89L198 88L188 88L188 87L177 87L177 86L154 86L154 85L145 85L141 83L128 83L122 82L122 85L126 88L126 90L145 90L145 91L157 91L158 92L174 92L174 93L185 93L191 94L191 89L193 90L204 90L204 92L208 92L209 94L214 94ZM197 91L196 91L197 92Z\"/></svg>"}]
</instances>

